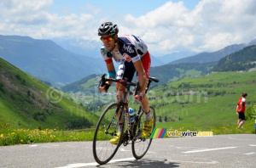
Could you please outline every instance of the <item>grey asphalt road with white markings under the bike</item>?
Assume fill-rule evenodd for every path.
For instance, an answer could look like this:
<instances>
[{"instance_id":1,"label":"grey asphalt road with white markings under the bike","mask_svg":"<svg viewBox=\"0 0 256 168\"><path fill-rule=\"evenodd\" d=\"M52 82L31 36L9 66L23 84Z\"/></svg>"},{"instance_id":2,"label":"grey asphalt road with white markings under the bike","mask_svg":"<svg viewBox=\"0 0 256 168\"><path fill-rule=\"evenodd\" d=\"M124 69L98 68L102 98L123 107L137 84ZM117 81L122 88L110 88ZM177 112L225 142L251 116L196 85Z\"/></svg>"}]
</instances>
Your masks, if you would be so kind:
<instances>
[{"instance_id":1,"label":"grey asphalt road with white markings under the bike","mask_svg":"<svg viewBox=\"0 0 256 168\"><path fill-rule=\"evenodd\" d=\"M92 142L0 147L0 167L256 167L256 135L154 139L142 160L121 146L107 165L96 164Z\"/></svg>"}]
</instances>

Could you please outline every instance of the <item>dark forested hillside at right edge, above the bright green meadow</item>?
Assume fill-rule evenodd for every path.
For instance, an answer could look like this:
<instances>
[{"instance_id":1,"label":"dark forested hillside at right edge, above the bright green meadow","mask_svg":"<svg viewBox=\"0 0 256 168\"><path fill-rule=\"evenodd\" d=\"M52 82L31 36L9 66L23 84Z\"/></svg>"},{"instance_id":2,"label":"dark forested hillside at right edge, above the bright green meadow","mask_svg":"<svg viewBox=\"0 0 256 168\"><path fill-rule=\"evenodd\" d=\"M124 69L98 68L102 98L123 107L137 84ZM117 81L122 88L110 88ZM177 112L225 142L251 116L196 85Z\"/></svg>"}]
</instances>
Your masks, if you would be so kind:
<instances>
[{"instance_id":1,"label":"dark forested hillside at right edge, above the bright green meadow","mask_svg":"<svg viewBox=\"0 0 256 168\"><path fill-rule=\"evenodd\" d=\"M256 46L243 48L236 53L220 59L218 64L213 67L213 71L239 71L250 70L256 67Z\"/></svg>"}]
</instances>

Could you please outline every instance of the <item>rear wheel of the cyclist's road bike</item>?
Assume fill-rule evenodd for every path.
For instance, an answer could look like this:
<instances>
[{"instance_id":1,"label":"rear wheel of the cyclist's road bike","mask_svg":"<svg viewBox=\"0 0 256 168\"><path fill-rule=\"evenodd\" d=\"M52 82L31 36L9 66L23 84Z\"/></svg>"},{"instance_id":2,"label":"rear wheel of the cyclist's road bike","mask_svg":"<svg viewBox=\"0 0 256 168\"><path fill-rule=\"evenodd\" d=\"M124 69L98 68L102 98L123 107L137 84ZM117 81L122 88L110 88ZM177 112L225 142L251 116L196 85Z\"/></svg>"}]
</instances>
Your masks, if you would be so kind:
<instances>
[{"instance_id":1,"label":"rear wheel of the cyclist's road bike","mask_svg":"<svg viewBox=\"0 0 256 168\"><path fill-rule=\"evenodd\" d=\"M139 118L139 122L137 125L135 139L133 139L131 143L132 154L137 160L143 158L143 156L148 152L148 148L150 147L150 144L152 142L152 138L150 138L150 136L154 131L155 127L155 111L154 108L151 106L149 107L149 109L152 117L154 117L154 124L151 127L151 132L149 133L148 137L141 137L141 133L143 131L143 124L144 121L146 120L145 115L141 115L141 118Z\"/></svg>"}]
</instances>

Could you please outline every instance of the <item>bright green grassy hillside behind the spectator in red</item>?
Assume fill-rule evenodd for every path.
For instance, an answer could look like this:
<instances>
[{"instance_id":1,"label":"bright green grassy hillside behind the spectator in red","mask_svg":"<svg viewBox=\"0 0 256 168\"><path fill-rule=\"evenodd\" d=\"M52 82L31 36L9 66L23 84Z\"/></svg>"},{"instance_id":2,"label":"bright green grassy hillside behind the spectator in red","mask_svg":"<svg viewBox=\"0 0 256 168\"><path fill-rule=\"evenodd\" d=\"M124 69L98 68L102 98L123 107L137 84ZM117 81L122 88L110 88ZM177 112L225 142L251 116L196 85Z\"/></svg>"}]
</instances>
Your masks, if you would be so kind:
<instances>
[{"instance_id":1,"label":"bright green grassy hillside behind the spectator in red","mask_svg":"<svg viewBox=\"0 0 256 168\"><path fill-rule=\"evenodd\" d=\"M256 71L216 72L151 88L148 99L156 110L157 127L205 131L217 126L236 126L236 104L241 92L248 93L247 109L256 102L255 79Z\"/></svg>"}]
</instances>

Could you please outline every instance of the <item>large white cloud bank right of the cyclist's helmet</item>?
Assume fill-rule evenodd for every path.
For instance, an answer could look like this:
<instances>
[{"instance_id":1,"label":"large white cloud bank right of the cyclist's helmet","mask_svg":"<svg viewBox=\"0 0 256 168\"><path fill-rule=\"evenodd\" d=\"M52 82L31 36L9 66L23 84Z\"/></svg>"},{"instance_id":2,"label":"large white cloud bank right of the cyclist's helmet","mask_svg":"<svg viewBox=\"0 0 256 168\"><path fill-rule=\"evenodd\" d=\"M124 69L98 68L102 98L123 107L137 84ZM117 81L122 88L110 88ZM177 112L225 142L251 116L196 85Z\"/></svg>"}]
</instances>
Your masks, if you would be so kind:
<instances>
[{"instance_id":1,"label":"large white cloud bank right of the cyclist's helmet","mask_svg":"<svg viewBox=\"0 0 256 168\"><path fill-rule=\"evenodd\" d=\"M154 53L211 52L255 38L255 8L254 0L202 0L193 10L168 2L138 18L125 15L125 26L131 25L129 33L137 32Z\"/></svg>"}]
</instances>

